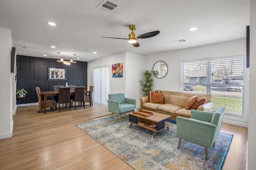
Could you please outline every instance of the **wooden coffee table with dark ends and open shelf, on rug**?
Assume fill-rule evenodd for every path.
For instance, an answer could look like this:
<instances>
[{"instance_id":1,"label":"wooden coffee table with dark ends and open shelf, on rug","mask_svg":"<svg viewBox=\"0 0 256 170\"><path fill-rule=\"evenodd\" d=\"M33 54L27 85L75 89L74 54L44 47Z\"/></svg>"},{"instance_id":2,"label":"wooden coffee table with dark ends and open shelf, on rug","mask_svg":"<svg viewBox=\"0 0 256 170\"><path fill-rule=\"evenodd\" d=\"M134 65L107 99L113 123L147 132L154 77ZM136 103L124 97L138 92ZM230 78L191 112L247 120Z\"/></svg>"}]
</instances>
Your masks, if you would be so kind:
<instances>
[{"instance_id":1,"label":"wooden coffee table with dark ends and open shelf, on rug","mask_svg":"<svg viewBox=\"0 0 256 170\"><path fill-rule=\"evenodd\" d=\"M153 113L153 115L144 117L145 115L138 114L140 113L140 111L150 112L150 113ZM170 115L155 113L155 112L146 111L146 110L140 110L140 111L137 111L137 114L134 112L129 113L129 122L131 123L130 128L132 127L132 124L136 124L138 126L154 131L153 138L155 138L157 132L163 130L165 127L169 129L170 123L166 123L165 120L170 118L171 117ZM156 127L153 128L153 127L150 127L149 125L156 125Z\"/></svg>"}]
</instances>

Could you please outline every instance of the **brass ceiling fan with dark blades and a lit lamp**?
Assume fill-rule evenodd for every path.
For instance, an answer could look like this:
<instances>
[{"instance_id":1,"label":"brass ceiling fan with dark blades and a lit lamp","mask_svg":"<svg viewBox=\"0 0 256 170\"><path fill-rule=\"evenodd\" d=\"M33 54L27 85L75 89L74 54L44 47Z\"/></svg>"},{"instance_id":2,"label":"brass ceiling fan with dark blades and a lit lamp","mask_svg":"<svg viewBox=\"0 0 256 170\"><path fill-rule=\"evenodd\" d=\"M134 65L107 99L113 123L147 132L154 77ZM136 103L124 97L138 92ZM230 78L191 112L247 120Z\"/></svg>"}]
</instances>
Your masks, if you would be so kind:
<instances>
[{"instance_id":1,"label":"brass ceiling fan with dark blades and a lit lamp","mask_svg":"<svg viewBox=\"0 0 256 170\"><path fill-rule=\"evenodd\" d=\"M136 30L136 25L129 25L129 29L132 30L132 32L129 34L129 38L114 38L114 37L102 37L102 38L126 39L128 40L128 43L132 43L132 46L140 47L140 44L138 43L137 39L154 37L160 33L160 31L152 31L149 33L144 33L137 37L136 33L133 32L134 30Z\"/></svg>"}]
</instances>

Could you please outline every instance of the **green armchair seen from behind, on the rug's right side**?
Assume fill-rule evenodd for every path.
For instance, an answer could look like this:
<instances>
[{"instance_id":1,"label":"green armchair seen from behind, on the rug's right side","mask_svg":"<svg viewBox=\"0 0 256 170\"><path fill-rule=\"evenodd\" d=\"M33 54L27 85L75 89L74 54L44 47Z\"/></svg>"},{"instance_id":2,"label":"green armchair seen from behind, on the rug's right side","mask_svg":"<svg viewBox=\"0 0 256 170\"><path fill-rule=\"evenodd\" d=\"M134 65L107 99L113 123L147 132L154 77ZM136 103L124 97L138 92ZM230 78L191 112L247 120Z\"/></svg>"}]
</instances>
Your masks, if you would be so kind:
<instances>
[{"instance_id":1,"label":"green armchair seen from behind, on the rug's right side","mask_svg":"<svg viewBox=\"0 0 256 170\"><path fill-rule=\"evenodd\" d=\"M215 139L220 133L225 107L220 107L215 113L191 110L191 118L177 117L176 137L205 147L208 160L208 148L215 146Z\"/></svg>"}]
</instances>

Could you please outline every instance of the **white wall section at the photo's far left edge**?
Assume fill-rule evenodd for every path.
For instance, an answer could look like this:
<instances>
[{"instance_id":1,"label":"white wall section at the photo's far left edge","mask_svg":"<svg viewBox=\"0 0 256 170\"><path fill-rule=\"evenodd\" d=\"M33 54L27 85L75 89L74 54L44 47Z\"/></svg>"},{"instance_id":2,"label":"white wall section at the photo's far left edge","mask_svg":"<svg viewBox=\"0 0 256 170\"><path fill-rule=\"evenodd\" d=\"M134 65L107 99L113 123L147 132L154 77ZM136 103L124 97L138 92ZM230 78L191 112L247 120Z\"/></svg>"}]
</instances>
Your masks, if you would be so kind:
<instances>
[{"instance_id":1,"label":"white wall section at the photo's far left edge","mask_svg":"<svg viewBox=\"0 0 256 170\"><path fill-rule=\"evenodd\" d=\"M2 98L0 98L0 139L12 137L12 75L11 75L11 48L12 34L11 30L0 27L0 89Z\"/></svg>"}]
</instances>

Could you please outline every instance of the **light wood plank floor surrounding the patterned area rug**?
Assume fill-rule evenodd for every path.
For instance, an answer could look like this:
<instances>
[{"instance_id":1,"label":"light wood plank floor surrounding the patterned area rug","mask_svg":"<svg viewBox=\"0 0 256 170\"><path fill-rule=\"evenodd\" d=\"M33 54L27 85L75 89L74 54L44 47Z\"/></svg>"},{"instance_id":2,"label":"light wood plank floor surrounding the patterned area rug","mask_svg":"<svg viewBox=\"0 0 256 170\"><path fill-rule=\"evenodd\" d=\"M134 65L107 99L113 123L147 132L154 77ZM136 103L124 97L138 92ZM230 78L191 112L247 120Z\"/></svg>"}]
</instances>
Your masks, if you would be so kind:
<instances>
[{"instance_id":1,"label":"light wood plank floor surrounding the patterned area rug","mask_svg":"<svg viewBox=\"0 0 256 170\"><path fill-rule=\"evenodd\" d=\"M39 114L36 106L18 107L13 118L14 136L0 140L0 169L132 170L76 127L76 124L108 114L107 106L97 103L76 111L74 108L72 111L62 109L60 113L47 110L46 114ZM79 119L83 121L76 122ZM118 121L119 116L114 119ZM223 170L245 170L247 128L223 123L221 131L234 134ZM209 157L210 154L208 150Z\"/></svg>"}]
</instances>

